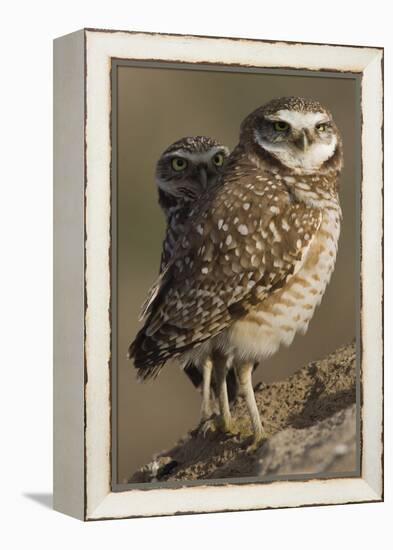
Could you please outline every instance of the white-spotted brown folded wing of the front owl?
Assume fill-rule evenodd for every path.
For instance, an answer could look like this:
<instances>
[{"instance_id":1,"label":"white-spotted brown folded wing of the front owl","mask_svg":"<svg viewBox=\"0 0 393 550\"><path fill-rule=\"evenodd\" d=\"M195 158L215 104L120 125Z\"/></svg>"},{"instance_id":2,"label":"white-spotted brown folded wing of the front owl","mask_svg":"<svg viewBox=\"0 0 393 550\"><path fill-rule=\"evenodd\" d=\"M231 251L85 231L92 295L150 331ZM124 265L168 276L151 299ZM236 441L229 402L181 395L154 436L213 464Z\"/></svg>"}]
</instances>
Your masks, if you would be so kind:
<instances>
[{"instance_id":1,"label":"white-spotted brown folded wing of the front owl","mask_svg":"<svg viewBox=\"0 0 393 550\"><path fill-rule=\"evenodd\" d=\"M301 267L321 211L269 178L226 176L191 218L130 346L142 378L216 336Z\"/></svg>"}]
</instances>

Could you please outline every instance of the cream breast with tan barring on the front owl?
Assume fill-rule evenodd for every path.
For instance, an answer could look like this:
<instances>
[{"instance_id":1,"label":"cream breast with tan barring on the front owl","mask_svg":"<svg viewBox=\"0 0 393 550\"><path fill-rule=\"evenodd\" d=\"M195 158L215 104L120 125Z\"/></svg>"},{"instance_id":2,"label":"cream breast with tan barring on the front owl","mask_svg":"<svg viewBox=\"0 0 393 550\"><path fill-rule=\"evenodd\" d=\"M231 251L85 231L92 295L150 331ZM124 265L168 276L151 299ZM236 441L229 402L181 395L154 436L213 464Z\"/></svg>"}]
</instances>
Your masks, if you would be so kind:
<instances>
[{"instance_id":1,"label":"cream breast with tan barring on the front owl","mask_svg":"<svg viewBox=\"0 0 393 550\"><path fill-rule=\"evenodd\" d=\"M326 209L304 261L284 287L263 300L227 333L227 344L246 361L260 361L305 333L331 278L340 233L340 208Z\"/></svg>"}]
</instances>

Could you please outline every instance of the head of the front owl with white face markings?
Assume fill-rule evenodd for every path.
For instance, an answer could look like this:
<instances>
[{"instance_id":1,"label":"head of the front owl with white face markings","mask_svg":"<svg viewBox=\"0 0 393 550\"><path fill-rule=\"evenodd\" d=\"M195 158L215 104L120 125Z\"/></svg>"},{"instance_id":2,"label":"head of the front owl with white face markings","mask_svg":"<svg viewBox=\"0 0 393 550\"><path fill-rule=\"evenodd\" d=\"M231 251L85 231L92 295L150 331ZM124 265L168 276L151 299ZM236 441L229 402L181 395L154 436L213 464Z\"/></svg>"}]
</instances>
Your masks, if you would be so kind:
<instances>
[{"instance_id":1,"label":"head of the front owl with white face markings","mask_svg":"<svg viewBox=\"0 0 393 550\"><path fill-rule=\"evenodd\" d=\"M251 113L240 140L297 173L339 171L342 165L341 138L331 113L302 97L274 99Z\"/></svg>"}]
</instances>

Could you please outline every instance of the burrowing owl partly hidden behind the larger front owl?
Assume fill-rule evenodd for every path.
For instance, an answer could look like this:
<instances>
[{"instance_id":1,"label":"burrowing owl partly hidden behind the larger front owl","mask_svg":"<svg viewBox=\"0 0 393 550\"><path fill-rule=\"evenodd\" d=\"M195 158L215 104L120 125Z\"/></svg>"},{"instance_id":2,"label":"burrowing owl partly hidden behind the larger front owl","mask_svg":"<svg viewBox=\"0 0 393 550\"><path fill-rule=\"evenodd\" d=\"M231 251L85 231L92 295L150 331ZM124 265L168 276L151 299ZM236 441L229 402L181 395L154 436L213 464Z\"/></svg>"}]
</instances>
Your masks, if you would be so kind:
<instances>
[{"instance_id":1,"label":"burrowing owl partly hidden behind the larger front owl","mask_svg":"<svg viewBox=\"0 0 393 550\"><path fill-rule=\"evenodd\" d=\"M160 156L155 172L158 197L167 221L161 255L160 272L168 264L192 208L208 189L217 184L223 172L229 149L217 140L206 136L189 136L172 143ZM211 415L210 385L211 362L203 370L192 361L184 366L184 372L196 387L202 386L201 420ZM229 377L233 393L235 380ZM213 384L214 386L214 384Z\"/></svg>"}]
</instances>

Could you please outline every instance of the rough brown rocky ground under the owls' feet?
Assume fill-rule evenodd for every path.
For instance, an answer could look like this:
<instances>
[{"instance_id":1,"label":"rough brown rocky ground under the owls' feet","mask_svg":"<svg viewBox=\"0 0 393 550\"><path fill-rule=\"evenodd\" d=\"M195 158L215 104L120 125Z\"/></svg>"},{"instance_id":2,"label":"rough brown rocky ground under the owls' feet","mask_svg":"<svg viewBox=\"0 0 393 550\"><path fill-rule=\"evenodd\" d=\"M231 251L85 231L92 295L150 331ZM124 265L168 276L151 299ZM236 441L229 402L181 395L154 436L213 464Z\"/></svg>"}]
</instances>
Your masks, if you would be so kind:
<instances>
[{"instance_id":1,"label":"rough brown rocky ground under the owls' feet","mask_svg":"<svg viewBox=\"0 0 393 550\"><path fill-rule=\"evenodd\" d=\"M258 384L255 396L267 439L247 452L251 427L238 399L242 435L193 430L152 457L130 483L351 472L356 469L355 345L311 362L290 378Z\"/></svg>"}]
</instances>

